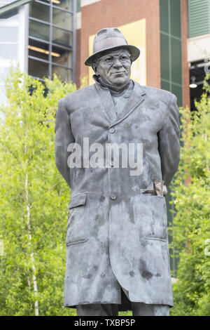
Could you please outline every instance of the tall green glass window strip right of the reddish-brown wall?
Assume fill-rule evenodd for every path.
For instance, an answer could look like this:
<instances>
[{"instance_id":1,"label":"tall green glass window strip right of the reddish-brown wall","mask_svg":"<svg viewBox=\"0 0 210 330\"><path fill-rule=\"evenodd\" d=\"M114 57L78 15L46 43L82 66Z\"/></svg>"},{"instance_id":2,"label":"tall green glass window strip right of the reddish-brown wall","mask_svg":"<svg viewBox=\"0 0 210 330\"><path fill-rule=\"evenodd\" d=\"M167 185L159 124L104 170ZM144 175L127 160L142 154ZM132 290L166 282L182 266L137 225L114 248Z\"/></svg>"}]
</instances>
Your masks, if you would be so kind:
<instances>
[{"instance_id":1,"label":"tall green glass window strip right of the reddish-brown wall","mask_svg":"<svg viewBox=\"0 0 210 330\"><path fill-rule=\"evenodd\" d=\"M174 93L177 103L182 105L182 58L181 58L181 1L160 0L160 58L161 88ZM174 181L169 185L166 196L169 225L174 223L172 192ZM172 237L169 236L169 243ZM170 253L173 254L172 249ZM176 276L178 260L170 259L171 269Z\"/></svg>"}]
</instances>

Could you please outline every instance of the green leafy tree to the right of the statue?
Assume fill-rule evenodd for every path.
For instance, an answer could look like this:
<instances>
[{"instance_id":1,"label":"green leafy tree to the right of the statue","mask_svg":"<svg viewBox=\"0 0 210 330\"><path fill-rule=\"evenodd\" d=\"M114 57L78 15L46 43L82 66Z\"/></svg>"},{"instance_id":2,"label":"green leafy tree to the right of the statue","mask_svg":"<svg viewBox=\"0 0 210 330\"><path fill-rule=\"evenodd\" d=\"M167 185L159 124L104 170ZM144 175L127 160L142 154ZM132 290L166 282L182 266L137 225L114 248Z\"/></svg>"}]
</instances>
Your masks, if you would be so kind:
<instances>
[{"instance_id":1,"label":"green leafy tree to the right of the statue","mask_svg":"<svg viewBox=\"0 0 210 330\"><path fill-rule=\"evenodd\" d=\"M179 256L171 315L210 315L210 86L197 111L183 110L183 147L174 185L173 245ZM190 176L190 184L184 185Z\"/></svg>"}]
</instances>

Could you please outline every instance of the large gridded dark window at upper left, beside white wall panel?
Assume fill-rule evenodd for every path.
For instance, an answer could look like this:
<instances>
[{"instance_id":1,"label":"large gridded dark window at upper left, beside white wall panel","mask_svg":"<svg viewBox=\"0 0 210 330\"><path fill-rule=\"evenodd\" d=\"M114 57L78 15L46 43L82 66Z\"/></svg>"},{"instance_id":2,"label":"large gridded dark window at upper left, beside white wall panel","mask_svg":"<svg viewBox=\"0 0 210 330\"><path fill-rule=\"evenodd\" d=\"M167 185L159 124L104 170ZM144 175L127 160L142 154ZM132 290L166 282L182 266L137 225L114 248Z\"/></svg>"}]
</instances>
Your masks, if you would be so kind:
<instances>
[{"instance_id":1,"label":"large gridded dark window at upper left, beside white wall panel","mask_svg":"<svg viewBox=\"0 0 210 330\"><path fill-rule=\"evenodd\" d=\"M73 2L33 1L29 10L29 74L71 81L73 58ZM74 50L75 51L75 50Z\"/></svg>"}]
</instances>

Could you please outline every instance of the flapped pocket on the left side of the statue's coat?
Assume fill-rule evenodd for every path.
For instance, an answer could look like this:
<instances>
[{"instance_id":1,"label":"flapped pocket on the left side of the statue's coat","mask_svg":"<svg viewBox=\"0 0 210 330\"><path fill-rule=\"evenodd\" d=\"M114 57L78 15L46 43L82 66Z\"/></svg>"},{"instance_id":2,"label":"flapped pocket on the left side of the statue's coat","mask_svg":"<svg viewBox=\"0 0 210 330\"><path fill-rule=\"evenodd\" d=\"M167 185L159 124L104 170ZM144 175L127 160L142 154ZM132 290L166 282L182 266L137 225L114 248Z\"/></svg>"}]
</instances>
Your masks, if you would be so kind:
<instances>
[{"instance_id":1,"label":"flapped pocket on the left side of the statue's coat","mask_svg":"<svg viewBox=\"0 0 210 330\"><path fill-rule=\"evenodd\" d=\"M87 192L82 192L71 196L69 205L67 230L66 230L66 246L86 242L88 239L88 207Z\"/></svg>"}]
</instances>

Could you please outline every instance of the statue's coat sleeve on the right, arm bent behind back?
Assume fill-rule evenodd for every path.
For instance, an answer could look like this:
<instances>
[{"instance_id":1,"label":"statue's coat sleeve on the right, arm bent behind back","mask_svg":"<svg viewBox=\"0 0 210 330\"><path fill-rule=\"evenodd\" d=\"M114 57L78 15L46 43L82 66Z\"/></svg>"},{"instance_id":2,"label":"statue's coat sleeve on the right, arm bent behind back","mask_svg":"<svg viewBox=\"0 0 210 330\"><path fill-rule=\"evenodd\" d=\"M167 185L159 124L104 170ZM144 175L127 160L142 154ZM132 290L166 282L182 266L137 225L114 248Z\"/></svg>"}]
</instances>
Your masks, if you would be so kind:
<instances>
[{"instance_id":1,"label":"statue's coat sleeve on the right, arm bent behind back","mask_svg":"<svg viewBox=\"0 0 210 330\"><path fill-rule=\"evenodd\" d=\"M158 151L161 160L162 180L168 186L179 166L180 129L179 107L176 96L172 95L162 129L158 132Z\"/></svg>"}]
</instances>

